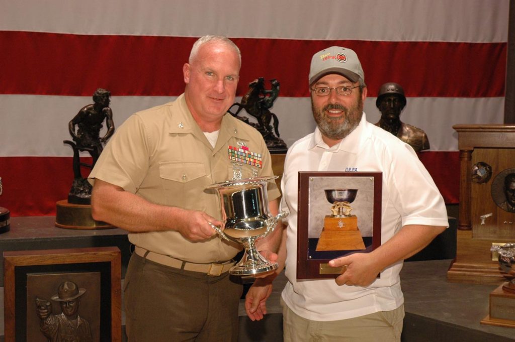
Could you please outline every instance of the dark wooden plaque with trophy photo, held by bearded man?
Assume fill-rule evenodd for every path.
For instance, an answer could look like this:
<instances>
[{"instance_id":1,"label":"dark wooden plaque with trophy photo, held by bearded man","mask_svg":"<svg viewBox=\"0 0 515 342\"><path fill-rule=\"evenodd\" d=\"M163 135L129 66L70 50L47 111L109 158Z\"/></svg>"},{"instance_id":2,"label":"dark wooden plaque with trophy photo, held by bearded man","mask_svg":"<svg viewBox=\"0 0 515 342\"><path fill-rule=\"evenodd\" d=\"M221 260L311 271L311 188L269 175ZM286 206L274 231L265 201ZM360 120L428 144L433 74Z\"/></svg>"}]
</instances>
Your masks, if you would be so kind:
<instances>
[{"instance_id":1,"label":"dark wooden plaque with trophy photo, held by bearded man","mask_svg":"<svg viewBox=\"0 0 515 342\"><path fill-rule=\"evenodd\" d=\"M299 172L297 279L335 278L344 268L330 260L381 245L382 184L382 172ZM336 189L355 190L345 209Z\"/></svg>"}]
</instances>

